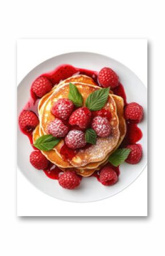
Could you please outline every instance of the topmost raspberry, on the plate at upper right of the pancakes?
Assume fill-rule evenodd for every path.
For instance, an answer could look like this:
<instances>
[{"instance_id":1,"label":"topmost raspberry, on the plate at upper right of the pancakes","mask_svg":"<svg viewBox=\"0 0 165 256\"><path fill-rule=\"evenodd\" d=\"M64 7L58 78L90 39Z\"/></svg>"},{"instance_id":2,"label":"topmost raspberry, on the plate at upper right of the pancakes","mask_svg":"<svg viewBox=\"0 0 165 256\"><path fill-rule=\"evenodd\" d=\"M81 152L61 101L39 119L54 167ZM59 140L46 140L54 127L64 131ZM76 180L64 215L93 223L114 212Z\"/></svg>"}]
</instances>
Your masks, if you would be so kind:
<instances>
[{"instance_id":1,"label":"topmost raspberry, on the plate at upper right of the pancakes","mask_svg":"<svg viewBox=\"0 0 165 256\"><path fill-rule=\"evenodd\" d=\"M115 88L118 86L118 76L109 67L104 67L98 73L98 81L102 87Z\"/></svg>"}]
</instances>

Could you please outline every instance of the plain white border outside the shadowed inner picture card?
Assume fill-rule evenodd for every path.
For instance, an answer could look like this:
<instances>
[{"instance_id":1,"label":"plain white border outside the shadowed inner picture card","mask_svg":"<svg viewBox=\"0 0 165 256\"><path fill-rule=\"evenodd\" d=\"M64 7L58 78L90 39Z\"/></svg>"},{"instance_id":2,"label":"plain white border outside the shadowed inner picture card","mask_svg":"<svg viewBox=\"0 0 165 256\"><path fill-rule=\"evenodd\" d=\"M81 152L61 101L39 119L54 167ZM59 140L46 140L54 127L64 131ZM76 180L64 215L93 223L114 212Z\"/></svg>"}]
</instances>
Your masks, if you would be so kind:
<instances>
[{"instance_id":1,"label":"plain white border outside the shadowed inner picture card","mask_svg":"<svg viewBox=\"0 0 165 256\"><path fill-rule=\"evenodd\" d=\"M163 3L163 0L1 3L1 255L164 255ZM16 39L83 36L149 39L149 217L18 218ZM125 192L129 189L131 186Z\"/></svg>"}]
</instances>

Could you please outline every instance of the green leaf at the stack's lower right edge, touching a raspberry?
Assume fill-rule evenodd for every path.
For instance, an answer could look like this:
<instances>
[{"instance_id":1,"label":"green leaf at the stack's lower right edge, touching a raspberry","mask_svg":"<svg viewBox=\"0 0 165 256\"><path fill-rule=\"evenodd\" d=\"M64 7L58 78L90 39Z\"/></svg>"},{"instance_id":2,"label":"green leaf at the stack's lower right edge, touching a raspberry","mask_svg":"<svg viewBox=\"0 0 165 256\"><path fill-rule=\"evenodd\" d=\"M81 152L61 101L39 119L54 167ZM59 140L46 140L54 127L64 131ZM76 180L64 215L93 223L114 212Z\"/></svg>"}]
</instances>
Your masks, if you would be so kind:
<instances>
[{"instance_id":1,"label":"green leaf at the stack's lower right edge, touching a raspberry","mask_svg":"<svg viewBox=\"0 0 165 256\"><path fill-rule=\"evenodd\" d=\"M127 159L129 153L129 148L119 148L110 155L109 162L114 166L118 166Z\"/></svg>"}]
</instances>

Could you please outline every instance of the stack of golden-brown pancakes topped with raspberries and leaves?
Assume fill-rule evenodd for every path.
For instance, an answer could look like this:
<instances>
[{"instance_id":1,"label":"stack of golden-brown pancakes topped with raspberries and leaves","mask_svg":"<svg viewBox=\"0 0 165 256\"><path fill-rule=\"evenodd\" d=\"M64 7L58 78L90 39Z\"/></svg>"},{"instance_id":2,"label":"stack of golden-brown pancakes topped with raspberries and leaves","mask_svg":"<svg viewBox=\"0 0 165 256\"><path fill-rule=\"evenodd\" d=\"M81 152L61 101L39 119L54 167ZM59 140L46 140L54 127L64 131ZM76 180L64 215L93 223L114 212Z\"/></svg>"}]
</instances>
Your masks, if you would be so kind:
<instances>
[{"instance_id":1,"label":"stack of golden-brown pancakes topped with raspberries and leaves","mask_svg":"<svg viewBox=\"0 0 165 256\"><path fill-rule=\"evenodd\" d=\"M94 83L93 79L85 75L72 76L53 87L39 101L38 114L40 122L33 133L34 143L38 137L48 134L47 125L55 119L55 116L51 113L52 105L61 98L68 98L70 82L78 88L83 96L84 104L89 94L100 90L100 87ZM96 145L81 148L71 160L64 160L64 157L60 154L60 149L64 145L64 139L61 139L60 143L52 150L42 151L43 155L53 164L59 166L64 172L74 170L77 174L84 177L92 175L108 162L109 156L119 147L125 137L126 123L123 116L123 105L122 97L114 95L110 91L109 99L104 106L104 109L108 109L112 115L110 119L112 132L109 137L97 137Z\"/></svg>"}]
</instances>

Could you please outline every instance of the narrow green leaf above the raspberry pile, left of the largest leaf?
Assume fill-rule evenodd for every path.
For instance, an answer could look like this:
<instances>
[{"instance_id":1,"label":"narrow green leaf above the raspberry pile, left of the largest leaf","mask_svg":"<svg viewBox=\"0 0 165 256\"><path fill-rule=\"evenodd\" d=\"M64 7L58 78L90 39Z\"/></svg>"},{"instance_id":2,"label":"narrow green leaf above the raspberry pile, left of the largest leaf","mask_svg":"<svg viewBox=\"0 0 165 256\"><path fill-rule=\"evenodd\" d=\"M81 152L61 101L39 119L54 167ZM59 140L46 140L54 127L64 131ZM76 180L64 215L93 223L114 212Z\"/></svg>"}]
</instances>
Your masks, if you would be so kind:
<instances>
[{"instance_id":1,"label":"narrow green leaf above the raspberry pile, left of the largest leaf","mask_svg":"<svg viewBox=\"0 0 165 256\"><path fill-rule=\"evenodd\" d=\"M83 105L83 97L77 87L72 83L69 83L68 98L69 100L72 100L73 104L76 105L76 107L81 107Z\"/></svg>"}]
</instances>

